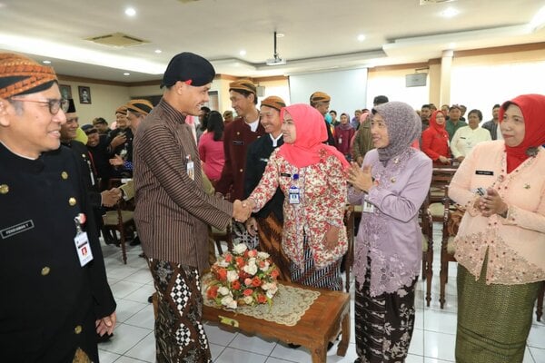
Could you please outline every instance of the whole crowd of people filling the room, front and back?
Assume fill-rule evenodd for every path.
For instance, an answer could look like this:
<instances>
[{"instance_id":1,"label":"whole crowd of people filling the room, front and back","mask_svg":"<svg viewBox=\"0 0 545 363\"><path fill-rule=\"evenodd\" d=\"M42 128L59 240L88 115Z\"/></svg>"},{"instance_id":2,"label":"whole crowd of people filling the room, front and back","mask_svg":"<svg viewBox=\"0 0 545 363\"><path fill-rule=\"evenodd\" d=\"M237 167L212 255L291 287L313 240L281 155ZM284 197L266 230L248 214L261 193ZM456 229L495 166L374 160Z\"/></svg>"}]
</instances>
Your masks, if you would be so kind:
<instances>
[{"instance_id":1,"label":"whole crowd of people filling the room, front and back","mask_svg":"<svg viewBox=\"0 0 545 363\"><path fill-rule=\"evenodd\" d=\"M545 280L545 96L494 105L480 126L480 110L466 123L464 106L417 112L384 95L352 118L337 118L322 91L292 105L271 95L258 108L256 85L239 79L229 84L234 113L219 113L203 106L214 75L202 56L177 54L159 103L120 105L112 130L100 117L80 128L52 68L0 54L0 289L19 297L2 299L2 360L98 361L96 344L116 320L102 213L134 195L157 361L212 361L201 294L211 226L232 224L235 243L268 252L280 279L340 291L352 203L362 206L355 362L402 362L421 270L419 210L433 167L460 164L449 189L466 209L455 239L456 359L522 361ZM133 182L118 188L112 178Z\"/></svg>"}]
</instances>

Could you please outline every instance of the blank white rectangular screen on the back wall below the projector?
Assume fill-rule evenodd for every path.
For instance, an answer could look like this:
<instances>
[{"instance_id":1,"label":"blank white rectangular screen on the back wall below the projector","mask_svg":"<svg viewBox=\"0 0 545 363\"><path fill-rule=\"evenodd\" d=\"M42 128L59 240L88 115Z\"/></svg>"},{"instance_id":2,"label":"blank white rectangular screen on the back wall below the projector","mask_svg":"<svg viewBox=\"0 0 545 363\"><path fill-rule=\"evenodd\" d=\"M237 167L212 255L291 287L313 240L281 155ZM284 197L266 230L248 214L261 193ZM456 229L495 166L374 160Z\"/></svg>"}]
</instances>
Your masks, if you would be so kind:
<instances>
[{"instance_id":1,"label":"blank white rectangular screen on the back wall below the projector","mask_svg":"<svg viewBox=\"0 0 545 363\"><path fill-rule=\"evenodd\" d=\"M330 110L338 115L365 106L367 98L367 69L329 71L290 75L291 103L309 103L311 94L322 91L332 96Z\"/></svg>"}]
</instances>

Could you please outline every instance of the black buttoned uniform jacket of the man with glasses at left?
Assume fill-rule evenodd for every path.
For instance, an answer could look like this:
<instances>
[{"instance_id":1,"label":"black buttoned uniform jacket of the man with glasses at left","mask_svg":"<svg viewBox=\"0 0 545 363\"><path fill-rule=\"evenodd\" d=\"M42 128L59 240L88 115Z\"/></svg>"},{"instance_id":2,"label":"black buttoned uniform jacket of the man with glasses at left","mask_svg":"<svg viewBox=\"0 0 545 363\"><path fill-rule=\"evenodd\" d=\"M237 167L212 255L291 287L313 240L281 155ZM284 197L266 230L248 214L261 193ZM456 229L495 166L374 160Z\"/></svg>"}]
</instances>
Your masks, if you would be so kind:
<instances>
[{"instance_id":1,"label":"black buttoned uniform jacket of the man with glasses at left","mask_svg":"<svg viewBox=\"0 0 545 363\"><path fill-rule=\"evenodd\" d=\"M74 217L84 213L94 260L80 265ZM110 315L94 218L73 152L28 160L0 143L0 361L98 361L94 321Z\"/></svg>"}]
</instances>

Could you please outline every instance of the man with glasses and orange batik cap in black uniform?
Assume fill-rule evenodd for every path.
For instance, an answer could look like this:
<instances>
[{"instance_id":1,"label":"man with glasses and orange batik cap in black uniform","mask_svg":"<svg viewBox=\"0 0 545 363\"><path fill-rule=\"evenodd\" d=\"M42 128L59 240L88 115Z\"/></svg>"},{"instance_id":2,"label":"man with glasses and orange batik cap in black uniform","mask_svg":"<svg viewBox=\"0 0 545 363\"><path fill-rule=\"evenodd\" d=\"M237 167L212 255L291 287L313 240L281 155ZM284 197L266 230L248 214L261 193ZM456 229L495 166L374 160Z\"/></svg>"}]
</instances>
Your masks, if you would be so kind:
<instances>
[{"instance_id":1,"label":"man with glasses and orange batik cap in black uniform","mask_svg":"<svg viewBox=\"0 0 545 363\"><path fill-rule=\"evenodd\" d=\"M115 301L53 69L0 54L0 361L98 361Z\"/></svg>"}]
</instances>

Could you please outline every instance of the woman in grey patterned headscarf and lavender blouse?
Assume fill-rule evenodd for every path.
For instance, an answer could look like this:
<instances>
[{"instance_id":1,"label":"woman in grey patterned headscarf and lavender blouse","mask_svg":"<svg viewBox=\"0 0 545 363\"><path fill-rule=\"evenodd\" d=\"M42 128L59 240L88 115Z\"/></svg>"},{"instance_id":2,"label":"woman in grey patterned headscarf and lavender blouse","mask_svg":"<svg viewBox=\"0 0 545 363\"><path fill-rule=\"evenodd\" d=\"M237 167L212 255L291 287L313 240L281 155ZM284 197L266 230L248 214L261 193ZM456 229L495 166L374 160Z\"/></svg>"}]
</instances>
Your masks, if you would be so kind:
<instances>
[{"instance_id":1,"label":"woman in grey patterned headscarf and lavender blouse","mask_svg":"<svg viewBox=\"0 0 545 363\"><path fill-rule=\"evenodd\" d=\"M431 160L411 147L421 119L407 103L372 111L375 146L362 169L352 162L348 198L362 203L355 243L355 362L402 362L414 325L414 289L421 266L418 213L431 182Z\"/></svg>"}]
</instances>

